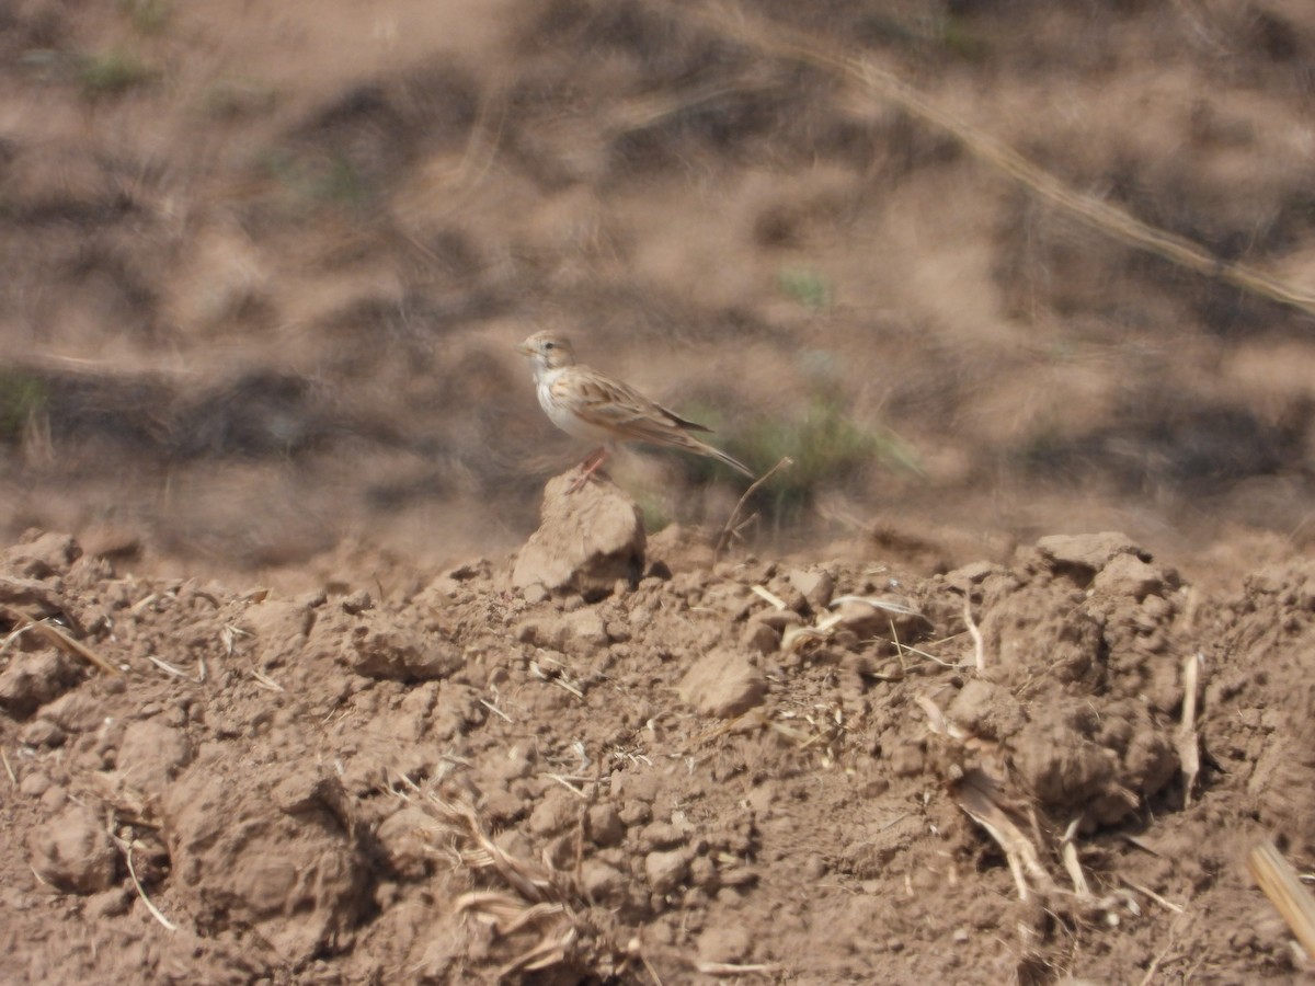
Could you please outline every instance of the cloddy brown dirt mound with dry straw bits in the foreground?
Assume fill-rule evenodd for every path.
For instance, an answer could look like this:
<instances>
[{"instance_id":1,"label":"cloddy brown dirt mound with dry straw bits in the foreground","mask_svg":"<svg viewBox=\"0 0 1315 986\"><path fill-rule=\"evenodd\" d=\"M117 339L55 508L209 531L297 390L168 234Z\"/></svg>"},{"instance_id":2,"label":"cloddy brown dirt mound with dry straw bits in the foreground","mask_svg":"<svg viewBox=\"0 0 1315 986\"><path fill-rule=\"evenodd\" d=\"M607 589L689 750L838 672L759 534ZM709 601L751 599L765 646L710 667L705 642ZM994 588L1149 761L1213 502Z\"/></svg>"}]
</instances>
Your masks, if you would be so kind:
<instances>
[{"instance_id":1,"label":"cloddy brown dirt mound with dry straw bits in the foreground","mask_svg":"<svg viewBox=\"0 0 1315 986\"><path fill-rule=\"evenodd\" d=\"M7 978L1294 974L1241 856L1315 852L1310 561L1224 599L1118 535L932 578L679 531L648 563L593 603L508 561L277 598L30 534Z\"/></svg>"}]
</instances>

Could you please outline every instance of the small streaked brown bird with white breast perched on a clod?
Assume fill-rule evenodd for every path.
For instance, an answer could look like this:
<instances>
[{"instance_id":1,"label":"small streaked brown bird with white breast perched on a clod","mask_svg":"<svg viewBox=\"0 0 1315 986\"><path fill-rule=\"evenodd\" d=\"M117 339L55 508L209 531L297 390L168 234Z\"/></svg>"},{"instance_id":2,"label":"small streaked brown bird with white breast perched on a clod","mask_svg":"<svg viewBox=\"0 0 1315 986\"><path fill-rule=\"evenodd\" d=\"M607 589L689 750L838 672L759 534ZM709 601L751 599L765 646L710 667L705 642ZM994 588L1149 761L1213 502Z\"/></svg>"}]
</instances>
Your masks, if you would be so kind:
<instances>
[{"instance_id":1,"label":"small streaked brown bird with white breast perched on a clod","mask_svg":"<svg viewBox=\"0 0 1315 986\"><path fill-rule=\"evenodd\" d=\"M568 492L581 489L623 442L706 455L753 479L753 471L744 463L689 434L711 429L686 421L629 384L577 363L567 337L552 330L539 331L517 350L530 359L539 406L548 419L568 435L601 446L580 463L580 476Z\"/></svg>"}]
</instances>

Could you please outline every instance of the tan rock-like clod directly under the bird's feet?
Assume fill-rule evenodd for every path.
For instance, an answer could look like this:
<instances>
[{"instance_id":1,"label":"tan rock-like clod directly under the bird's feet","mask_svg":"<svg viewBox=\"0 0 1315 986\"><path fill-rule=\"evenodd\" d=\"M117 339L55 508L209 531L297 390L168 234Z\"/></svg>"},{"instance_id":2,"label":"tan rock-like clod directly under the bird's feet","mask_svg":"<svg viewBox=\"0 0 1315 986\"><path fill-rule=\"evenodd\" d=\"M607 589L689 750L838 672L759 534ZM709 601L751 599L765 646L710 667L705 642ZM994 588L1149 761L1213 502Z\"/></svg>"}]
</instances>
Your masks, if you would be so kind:
<instances>
[{"instance_id":1,"label":"tan rock-like clod directly under the bird's feet","mask_svg":"<svg viewBox=\"0 0 1315 986\"><path fill-rule=\"evenodd\" d=\"M611 593L618 581L635 585L644 571L644 525L639 506L611 482L589 482L568 493L576 472L548 481L539 530L521 548L512 585L539 585L586 599Z\"/></svg>"}]
</instances>

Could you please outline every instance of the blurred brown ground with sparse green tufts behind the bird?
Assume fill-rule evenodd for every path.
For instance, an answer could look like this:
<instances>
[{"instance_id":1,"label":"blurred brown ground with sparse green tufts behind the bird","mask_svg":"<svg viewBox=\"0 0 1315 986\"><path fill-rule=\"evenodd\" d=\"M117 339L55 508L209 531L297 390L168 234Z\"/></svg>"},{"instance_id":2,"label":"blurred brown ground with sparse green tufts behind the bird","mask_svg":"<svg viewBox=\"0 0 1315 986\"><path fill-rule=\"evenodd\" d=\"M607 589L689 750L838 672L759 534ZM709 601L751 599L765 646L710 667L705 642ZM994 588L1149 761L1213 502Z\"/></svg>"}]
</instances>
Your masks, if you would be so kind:
<instances>
[{"instance_id":1,"label":"blurred brown ground with sparse green tufts behind the bird","mask_svg":"<svg viewBox=\"0 0 1315 986\"><path fill-rule=\"evenodd\" d=\"M9 536L501 551L555 327L794 460L764 548L1315 543L1306 3L18 0L0 78Z\"/></svg>"}]
</instances>

